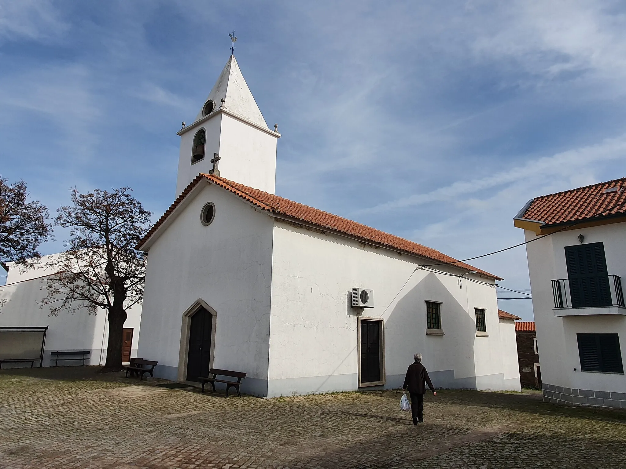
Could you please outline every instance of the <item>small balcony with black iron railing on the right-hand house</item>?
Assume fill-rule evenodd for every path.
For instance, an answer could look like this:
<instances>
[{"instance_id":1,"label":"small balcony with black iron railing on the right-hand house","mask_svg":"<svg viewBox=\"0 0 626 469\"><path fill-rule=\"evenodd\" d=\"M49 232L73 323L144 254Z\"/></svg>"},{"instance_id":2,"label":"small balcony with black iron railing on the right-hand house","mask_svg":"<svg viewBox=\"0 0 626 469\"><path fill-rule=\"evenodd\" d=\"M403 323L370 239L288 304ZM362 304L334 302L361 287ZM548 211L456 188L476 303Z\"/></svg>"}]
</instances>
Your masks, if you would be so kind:
<instances>
[{"instance_id":1,"label":"small balcony with black iron railing on the right-hand house","mask_svg":"<svg viewBox=\"0 0 626 469\"><path fill-rule=\"evenodd\" d=\"M578 276L552 280L555 316L626 315L622 278Z\"/></svg>"}]
</instances>

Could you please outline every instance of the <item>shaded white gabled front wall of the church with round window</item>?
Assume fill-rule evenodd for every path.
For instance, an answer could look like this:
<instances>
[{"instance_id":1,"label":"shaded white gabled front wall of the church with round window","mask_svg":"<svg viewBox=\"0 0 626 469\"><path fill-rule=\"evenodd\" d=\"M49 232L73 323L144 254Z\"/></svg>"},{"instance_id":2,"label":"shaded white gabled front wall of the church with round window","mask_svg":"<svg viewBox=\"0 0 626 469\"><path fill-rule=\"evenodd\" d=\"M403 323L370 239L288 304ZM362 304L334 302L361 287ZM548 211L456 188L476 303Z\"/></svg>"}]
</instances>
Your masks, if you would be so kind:
<instances>
[{"instance_id":1,"label":"shaded white gabled front wall of the church with round window","mask_svg":"<svg viewBox=\"0 0 626 469\"><path fill-rule=\"evenodd\" d=\"M157 360L156 375L178 370L183 313L201 299L217 312L213 366L245 371L242 391L267 391L272 219L222 188L201 181L170 216L148 251L138 354ZM204 226L200 212L215 204Z\"/></svg>"}]
</instances>

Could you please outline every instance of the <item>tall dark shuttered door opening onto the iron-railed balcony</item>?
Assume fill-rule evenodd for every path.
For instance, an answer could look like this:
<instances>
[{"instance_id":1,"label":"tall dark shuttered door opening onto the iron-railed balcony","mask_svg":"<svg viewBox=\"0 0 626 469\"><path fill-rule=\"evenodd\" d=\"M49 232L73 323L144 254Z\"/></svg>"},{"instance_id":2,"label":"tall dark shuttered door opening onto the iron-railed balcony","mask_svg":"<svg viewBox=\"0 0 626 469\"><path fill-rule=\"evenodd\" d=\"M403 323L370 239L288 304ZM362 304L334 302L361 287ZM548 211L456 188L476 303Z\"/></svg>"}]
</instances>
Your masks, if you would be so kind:
<instances>
[{"instance_id":1,"label":"tall dark shuttered door opening onto the iron-railed balcony","mask_svg":"<svg viewBox=\"0 0 626 469\"><path fill-rule=\"evenodd\" d=\"M603 243L565 246L573 308L610 306L607 260Z\"/></svg>"}]
</instances>

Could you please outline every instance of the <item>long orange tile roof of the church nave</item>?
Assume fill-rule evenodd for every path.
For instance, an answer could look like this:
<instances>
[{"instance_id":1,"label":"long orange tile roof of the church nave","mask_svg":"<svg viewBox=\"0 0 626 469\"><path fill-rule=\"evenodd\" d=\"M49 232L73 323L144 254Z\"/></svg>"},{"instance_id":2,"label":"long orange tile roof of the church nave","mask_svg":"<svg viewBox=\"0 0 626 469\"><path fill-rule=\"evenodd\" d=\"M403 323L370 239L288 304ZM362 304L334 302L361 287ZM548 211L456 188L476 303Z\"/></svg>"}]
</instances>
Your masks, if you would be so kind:
<instances>
[{"instance_id":1,"label":"long orange tile roof of the church nave","mask_svg":"<svg viewBox=\"0 0 626 469\"><path fill-rule=\"evenodd\" d=\"M453 263L454 266L461 269L469 271L475 270L479 274L484 275L488 278L493 278L494 280L502 280L496 275L475 268L469 264L458 262L456 259L451 258L450 256L446 256L443 253L440 253L439 251L431 248L427 248L426 246L418 245L418 243L414 243L413 241L408 241L404 240L403 238L399 238L398 236L389 235L389 233L384 233L383 231L379 231L378 229L370 228L369 226L361 223L356 223L356 221L342 218L341 216L333 215L332 213L327 213L325 211L318 210L307 205L299 204L297 202L290 201L289 199L284 199L274 194L260 191L259 189L244 186L244 184L228 181L228 179L220 178L213 174L202 173L198 174L198 176L193 179L193 181L187 186L182 194L178 196L178 198L174 201L170 208L167 209L163 216L154 224L154 226L152 226L150 231L148 231L146 236L143 237L143 239L136 246L136 248L140 249L141 246L145 245L146 241L148 241L150 236L155 233L156 229L158 229L158 227L163 224L165 219L170 216L170 214L174 211L178 204L183 201L185 196L187 196L187 194L190 193L192 189L203 179L207 180L209 183L216 184L217 186L220 186L221 188L224 188L227 191L232 192L233 194L237 194L242 199L249 201L255 206L264 209L265 211L284 215L292 219L304 221L305 223L314 224L322 229L330 229L332 231L336 231L337 233L354 236L354 238L358 238L359 240L375 243L381 246L386 246L394 250L404 251L406 253L411 253L436 262Z\"/></svg>"}]
</instances>

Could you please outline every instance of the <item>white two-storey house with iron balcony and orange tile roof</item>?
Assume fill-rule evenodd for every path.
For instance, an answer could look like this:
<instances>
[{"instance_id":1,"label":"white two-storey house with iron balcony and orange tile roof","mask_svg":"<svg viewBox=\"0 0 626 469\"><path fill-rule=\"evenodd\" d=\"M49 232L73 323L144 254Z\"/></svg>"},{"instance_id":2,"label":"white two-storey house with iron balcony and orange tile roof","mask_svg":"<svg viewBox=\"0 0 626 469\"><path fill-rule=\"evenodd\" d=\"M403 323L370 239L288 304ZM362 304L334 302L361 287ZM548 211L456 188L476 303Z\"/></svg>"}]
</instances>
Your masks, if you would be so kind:
<instances>
[{"instance_id":1,"label":"white two-storey house with iron balcony and orange tile roof","mask_svg":"<svg viewBox=\"0 0 626 469\"><path fill-rule=\"evenodd\" d=\"M626 178L532 199L514 223L533 241L543 399L626 407Z\"/></svg>"}]
</instances>

